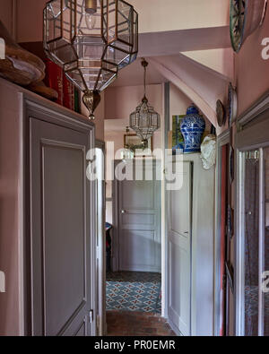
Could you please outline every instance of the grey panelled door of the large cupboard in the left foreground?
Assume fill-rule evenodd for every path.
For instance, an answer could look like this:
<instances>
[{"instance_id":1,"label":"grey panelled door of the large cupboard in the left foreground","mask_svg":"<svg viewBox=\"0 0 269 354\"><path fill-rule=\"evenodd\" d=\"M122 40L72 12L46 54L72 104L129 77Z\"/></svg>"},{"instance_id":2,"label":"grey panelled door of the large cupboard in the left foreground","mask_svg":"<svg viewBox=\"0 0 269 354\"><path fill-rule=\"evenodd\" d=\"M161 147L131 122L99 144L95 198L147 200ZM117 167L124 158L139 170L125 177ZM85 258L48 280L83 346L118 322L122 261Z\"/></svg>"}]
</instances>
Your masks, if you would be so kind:
<instances>
[{"instance_id":1,"label":"grey panelled door of the large cupboard in the left foreground","mask_svg":"<svg viewBox=\"0 0 269 354\"><path fill-rule=\"evenodd\" d=\"M89 132L30 118L31 334L91 335Z\"/></svg>"}]
</instances>

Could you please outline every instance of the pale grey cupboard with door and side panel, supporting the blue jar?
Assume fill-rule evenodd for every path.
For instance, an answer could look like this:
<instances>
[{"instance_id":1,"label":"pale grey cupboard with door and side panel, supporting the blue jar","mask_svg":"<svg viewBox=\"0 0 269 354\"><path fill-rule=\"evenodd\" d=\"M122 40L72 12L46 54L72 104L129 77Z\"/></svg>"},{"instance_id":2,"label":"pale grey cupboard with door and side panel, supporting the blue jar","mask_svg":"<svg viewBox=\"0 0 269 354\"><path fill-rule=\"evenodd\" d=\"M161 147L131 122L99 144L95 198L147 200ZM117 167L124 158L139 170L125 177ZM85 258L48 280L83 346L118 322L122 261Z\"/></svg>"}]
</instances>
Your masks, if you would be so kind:
<instances>
[{"instance_id":1,"label":"pale grey cupboard with door and side panel, supporting the blue jar","mask_svg":"<svg viewBox=\"0 0 269 354\"><path fill-rule=\"evenodd\" d=\"M168 192L169 322L183 335L213 335L215 170L204 170L200 154L173 163L182 187Z\"/></svg>"}]
</instances>

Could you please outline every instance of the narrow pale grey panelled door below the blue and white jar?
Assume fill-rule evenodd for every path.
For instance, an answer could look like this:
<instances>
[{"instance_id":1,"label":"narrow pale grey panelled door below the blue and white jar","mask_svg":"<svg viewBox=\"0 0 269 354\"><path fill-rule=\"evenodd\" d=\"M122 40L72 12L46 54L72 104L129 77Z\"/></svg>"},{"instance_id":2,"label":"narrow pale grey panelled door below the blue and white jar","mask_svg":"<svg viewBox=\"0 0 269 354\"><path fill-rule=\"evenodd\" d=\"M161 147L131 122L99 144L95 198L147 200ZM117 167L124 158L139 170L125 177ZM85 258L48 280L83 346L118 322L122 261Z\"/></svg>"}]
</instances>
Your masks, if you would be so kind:
<instances>
[{"instance_id":1,"label":"narrow pale grey panelled door below the blue and white jar","mask_svg":"<svg viewBox=\"0 0 269 354\"><path fill-rule=\"evenodd\" d=\"M190 335L192 163L183 163L183 185L169 192L169 321Z\"/></svg>"}]
</instances>

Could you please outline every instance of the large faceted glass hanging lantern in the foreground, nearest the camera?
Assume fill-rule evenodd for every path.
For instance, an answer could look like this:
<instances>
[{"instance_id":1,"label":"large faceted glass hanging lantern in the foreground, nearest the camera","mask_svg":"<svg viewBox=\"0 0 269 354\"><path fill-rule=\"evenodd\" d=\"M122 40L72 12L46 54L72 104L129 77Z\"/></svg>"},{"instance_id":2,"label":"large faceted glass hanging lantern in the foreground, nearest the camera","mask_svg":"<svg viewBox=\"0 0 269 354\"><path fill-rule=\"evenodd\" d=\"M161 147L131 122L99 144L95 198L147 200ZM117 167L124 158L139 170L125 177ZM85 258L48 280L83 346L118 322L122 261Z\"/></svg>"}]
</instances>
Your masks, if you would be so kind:
<instances>
[{"instance_id":1,"label":"large faceted glass hanging lantern in the foreground, nearest the camera","mask_svg":"<svg viewBox=\"0 0 269 354\"><path fill-rule=\"evenodd\" d=\"M136 59L138 14L124 0L51 0L44 9L44 48L83 91L94 118L100 91Z\"/></svg>"}]
</instances>

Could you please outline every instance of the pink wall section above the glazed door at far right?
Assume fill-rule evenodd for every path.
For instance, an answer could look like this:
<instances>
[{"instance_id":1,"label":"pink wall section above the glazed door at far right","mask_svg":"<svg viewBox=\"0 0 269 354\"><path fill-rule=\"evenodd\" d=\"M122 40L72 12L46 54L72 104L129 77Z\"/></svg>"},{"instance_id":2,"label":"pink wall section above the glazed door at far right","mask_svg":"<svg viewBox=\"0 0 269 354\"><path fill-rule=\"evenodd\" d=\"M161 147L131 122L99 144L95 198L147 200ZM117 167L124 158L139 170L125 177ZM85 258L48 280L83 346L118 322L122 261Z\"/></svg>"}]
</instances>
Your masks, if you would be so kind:
<instances>
[{"instance_id":1,"label":"pink wall section above the glazed door at far right","mask_svg":"<svg viewBox=\"0 0 269 354\"><path fill-rule=\"evenodd\" d=\"M247 39L239 54L235 55L239 115L269 89L269 60L261 56L264 38L269 38L269 8L263 26Z\"/></svg>"}]
</instances>

